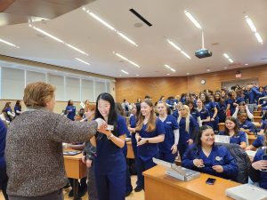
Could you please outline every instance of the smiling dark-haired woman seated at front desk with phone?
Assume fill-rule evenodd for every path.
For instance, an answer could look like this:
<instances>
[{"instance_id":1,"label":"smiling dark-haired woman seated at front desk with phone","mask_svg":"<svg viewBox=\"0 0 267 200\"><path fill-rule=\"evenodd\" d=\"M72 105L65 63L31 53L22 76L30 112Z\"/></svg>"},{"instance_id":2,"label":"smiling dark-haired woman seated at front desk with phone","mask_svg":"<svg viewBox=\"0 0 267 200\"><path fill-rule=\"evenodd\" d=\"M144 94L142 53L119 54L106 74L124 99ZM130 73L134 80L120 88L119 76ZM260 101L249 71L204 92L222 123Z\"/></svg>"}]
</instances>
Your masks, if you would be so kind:
<instances>
[{"instance_id":1,"label":"smiling dark-haired woman seated at front desk with phone","mask_svg":"<svg viewBox=\"0 0 267 200\"><path fill-rule=\"evenodd\" d=\"M214 146L214 130L208 125L200 128L196 143L186 150L182 166L224 179L234 179L239 172L229 150L223 146Z\"/></svg>"}]
</instances>

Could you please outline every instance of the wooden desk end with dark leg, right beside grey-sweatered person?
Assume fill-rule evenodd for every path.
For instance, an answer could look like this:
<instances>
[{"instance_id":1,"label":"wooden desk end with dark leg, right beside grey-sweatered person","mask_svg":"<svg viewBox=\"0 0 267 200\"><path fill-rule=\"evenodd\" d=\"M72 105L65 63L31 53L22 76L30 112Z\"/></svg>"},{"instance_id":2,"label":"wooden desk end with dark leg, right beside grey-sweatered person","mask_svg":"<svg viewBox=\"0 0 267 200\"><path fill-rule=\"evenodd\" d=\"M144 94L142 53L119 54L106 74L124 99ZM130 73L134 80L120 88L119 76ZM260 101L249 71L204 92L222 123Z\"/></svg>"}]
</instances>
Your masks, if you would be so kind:
<instances>
[{"instance_id":1,"label":"wooden desk end with dark leg, right beside grey-sweatered person","mask_svg":"<svg viewBox=\"0 0 267 200\"><path fill-rule=\"evenodd\" d=\"M78 198L78 180L86 176L86 165L82 162L83 154L75 156L64 156L65 171L68 178L74 179L73 182L73 199Z\"/></svg>"}]
</instances>

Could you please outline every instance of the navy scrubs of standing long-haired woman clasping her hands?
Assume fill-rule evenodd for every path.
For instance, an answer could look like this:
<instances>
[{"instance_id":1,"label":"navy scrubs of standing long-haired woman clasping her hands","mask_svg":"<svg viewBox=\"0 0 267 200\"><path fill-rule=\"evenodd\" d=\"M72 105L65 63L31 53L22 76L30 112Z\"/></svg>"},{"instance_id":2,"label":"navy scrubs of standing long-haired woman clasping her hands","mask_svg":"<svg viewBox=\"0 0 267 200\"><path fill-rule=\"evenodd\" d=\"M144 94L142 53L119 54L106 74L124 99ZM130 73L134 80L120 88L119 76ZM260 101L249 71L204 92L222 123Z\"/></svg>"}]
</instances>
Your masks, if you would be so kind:
<instances>
[{"instance_id":1,"label":"navy scrubs of standing long-haired woman clasping her hands","mask_svg":"<svg viewBox=\"0 0 267 200\"><path fill-rule=\"evenodd\" d=\"M142 129L138 132L142 138L154 138L160 134L165 134L163 123L157 118L156 129L153 132L146 132L147 124L142 125ZM158 158L158 143L145 143L137 147L136 170L137 174L142 178L140 187L144 187L144 178L142 172L152 168L156 164L152 158Z\"/></svg>"}]
</instances>

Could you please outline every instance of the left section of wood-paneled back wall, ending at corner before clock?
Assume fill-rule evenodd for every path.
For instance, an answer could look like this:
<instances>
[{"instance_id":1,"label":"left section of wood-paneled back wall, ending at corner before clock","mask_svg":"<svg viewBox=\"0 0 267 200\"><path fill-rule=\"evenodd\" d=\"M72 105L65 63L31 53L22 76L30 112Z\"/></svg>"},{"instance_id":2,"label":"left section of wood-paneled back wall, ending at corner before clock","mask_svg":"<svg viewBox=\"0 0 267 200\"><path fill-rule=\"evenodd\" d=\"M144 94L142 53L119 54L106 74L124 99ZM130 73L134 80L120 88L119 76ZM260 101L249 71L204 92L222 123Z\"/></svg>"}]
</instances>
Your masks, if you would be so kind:
<instances>
[{"instance_id":1,"label":"left section of wood-paneled back wall, ending at corner before clock","mask_svg":"<svg viewBox=\"0 0 267 200\"><path fill-rule=\"evenodd\" d=\"M136 102L137 98L150 95L153 101L161 95L174 96L187 92L187 77L119 78L116 80L116 100Z\"/></svg>"}]
</instances>

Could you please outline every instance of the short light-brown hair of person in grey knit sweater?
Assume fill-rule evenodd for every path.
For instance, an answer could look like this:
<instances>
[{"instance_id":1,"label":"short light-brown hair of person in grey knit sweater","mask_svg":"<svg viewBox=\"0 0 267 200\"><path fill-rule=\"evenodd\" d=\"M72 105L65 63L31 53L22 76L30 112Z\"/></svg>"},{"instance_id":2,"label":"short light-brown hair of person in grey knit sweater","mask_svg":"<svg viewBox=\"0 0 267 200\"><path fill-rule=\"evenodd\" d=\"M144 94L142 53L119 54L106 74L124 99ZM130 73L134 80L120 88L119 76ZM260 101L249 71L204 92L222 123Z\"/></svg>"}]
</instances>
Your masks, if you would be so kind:
<instances>
[{"instance_id":1,"label":"short light-brown hair of person in grey knit sweater","mask_svg":"<svg viewBox=\"0 0 267 200\"><path fill-rule=\"evenodd\" d=\"M28 84L24 89L23 101L26 107L46 107L46 103L53 99L55 87L52 84L36 82Z\"/></svg>"}]
</instances>

